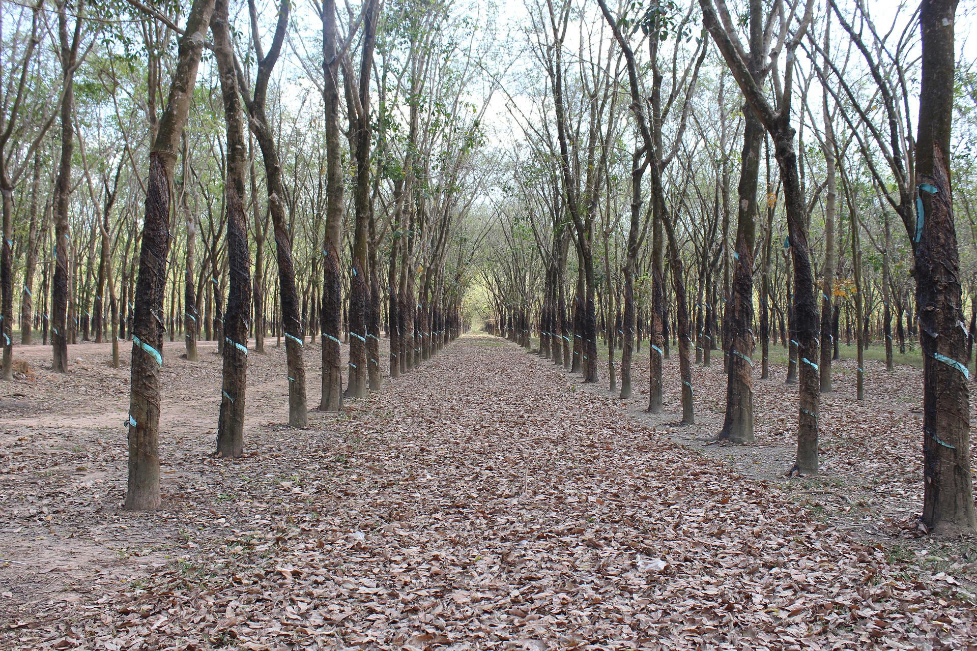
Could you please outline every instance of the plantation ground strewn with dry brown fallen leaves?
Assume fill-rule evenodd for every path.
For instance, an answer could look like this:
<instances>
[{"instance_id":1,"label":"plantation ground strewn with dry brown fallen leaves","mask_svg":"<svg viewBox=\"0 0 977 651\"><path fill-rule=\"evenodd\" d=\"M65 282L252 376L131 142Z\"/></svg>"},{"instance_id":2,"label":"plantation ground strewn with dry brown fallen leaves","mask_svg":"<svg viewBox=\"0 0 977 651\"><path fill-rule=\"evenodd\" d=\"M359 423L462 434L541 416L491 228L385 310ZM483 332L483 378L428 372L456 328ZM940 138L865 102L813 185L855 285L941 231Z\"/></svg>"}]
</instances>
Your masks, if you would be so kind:
<instances>
[{"instance_id":1,"label":"plantation ground strewn with dry brown fallen leaves","mask_svg":"<svg viewBox=\"0 0 977 651\"><path fill-rule=\"evenodd\" d=\"M676 427L674 354L651 416L644 364L621 401L477 335L297 430L268 340L249 356L247 454L229 461L211 456L214 346L191 363L167 343L149 513L121 509L128 368L85 344L60 376L50 347L16 349L32 373L0 387L0 648L977 644L977 542L914 527L916 369L870 362L858 403L840 362L822 472L787 479L783 367L755 383L750 446L707 445L721 360L695 369L700 425ZM306 355L316 378L319 346Z\"/></svg>"}]
</instances>

